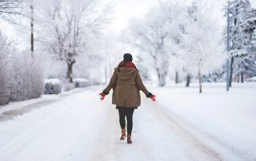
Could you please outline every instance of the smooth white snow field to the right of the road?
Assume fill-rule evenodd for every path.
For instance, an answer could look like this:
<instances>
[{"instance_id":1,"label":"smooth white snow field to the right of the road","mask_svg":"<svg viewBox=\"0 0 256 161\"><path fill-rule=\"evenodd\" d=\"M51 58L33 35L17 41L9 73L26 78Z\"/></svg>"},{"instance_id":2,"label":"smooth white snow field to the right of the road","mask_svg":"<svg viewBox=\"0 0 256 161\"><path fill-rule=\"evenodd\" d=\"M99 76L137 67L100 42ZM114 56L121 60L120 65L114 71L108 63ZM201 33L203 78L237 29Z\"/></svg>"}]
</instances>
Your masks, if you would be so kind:
<instances>
[{"instance_id":1,"label":"smooth white snow field to the right of the road","mask_svg":"<svg viewBox=\"0 0 256 161\"><path fill-rule=\"evenodd\" d=\"M227 160L254 160L255 84L234 84L230 92L225 84L206 84L202 95L192 88L158 89L158 102Z\"/></svg>"}]
</instances>

